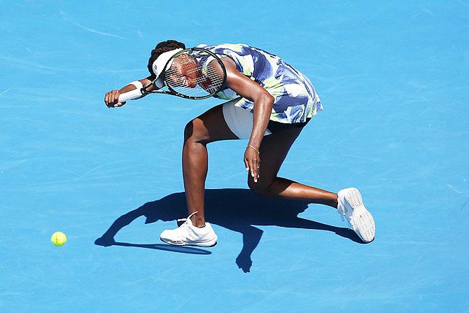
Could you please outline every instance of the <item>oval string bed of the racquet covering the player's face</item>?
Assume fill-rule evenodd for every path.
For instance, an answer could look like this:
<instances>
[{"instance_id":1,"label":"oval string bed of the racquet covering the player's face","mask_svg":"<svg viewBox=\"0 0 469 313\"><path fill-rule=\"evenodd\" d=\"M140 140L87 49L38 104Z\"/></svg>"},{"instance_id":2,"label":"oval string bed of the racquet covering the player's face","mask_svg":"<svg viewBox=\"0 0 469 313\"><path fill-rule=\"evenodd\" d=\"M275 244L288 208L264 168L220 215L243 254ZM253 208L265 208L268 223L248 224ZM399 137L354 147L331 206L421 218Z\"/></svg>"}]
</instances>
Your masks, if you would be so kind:
<instances>
[{"instance_id":1,"label":"oval string bed of the racquet covering the player's face","mask_svg":"<svg viewBox=\"0 0 469 313\"><path fill-rule=\"evenodd\" d=\"M202 51L176 56L165 70L168 87L186 97L214 95L224 81L223 64Z\"/></svg>"}]
</instances>

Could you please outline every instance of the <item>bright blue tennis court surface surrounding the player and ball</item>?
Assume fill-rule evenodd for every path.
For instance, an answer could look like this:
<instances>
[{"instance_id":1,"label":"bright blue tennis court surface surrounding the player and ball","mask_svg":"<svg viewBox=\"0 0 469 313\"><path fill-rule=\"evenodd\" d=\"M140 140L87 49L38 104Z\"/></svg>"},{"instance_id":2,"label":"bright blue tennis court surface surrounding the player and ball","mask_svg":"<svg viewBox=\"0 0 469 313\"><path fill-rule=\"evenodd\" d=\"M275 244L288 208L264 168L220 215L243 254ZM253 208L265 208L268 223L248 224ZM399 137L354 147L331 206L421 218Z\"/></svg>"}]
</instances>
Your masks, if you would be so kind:
<instances>
[{"instance_id":1,"label":"bright blue tennis court surface surrounding the player and ball","mask_svg":"<svg viewBox=\"0 0 469 313\"><path fill-rule=\"evenodd\" d=\"M468 15L468 1L3 3L0 312L469 312ZM374 242L328 207L253 195L246 141L209 145L218 244L160 242L186 217L183 127L218 102L103 99L166 39L248 43L306 74L325 110L280 175L359 188Z\"/></svg>"}]
</instances>

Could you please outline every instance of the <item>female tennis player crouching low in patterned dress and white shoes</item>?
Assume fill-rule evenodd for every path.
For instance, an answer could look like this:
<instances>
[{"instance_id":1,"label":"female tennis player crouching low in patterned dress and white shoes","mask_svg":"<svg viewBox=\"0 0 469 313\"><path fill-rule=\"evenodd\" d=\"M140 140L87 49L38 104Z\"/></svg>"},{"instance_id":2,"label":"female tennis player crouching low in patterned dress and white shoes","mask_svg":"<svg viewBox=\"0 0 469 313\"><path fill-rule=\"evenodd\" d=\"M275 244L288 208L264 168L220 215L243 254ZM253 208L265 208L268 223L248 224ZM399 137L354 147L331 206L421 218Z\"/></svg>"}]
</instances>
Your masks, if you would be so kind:
<instances>
[{"instance_id":1,"label":"female tennis player crouching low in patterned dress and white shoes","mask_svg":"<svg viewBox=\"0 0 469 313\"><path fill-rule=\"evenodd\" d=\"M119 96L152 83L160 73L155 64L165 64L186 46L179 41L158 43L148 60L150 76L120 90L106 93L110 108L123 106ZM277 176L290 146L309 120L323 109L309 79L276 55L244 44L200 45L221 58L226 69L225 89L214 97L229 100L187 123L184 129L183 179L188 218L174 230L164 230L163 242L175 245L214 246L217 235L204 216L204 188L207 177L207 144L214 141L248 139L244 165L248 186L265 197L283 197L325 204L337 209L342 220L363 240L374 239L374 219L363 205L356 188L338 193L297 183ZM163 60L164 59L164 60ZM195 85L192 74L179 69L181 81ZM155 82L151 88L162 88Z\"/></svg>"}]
</instances>

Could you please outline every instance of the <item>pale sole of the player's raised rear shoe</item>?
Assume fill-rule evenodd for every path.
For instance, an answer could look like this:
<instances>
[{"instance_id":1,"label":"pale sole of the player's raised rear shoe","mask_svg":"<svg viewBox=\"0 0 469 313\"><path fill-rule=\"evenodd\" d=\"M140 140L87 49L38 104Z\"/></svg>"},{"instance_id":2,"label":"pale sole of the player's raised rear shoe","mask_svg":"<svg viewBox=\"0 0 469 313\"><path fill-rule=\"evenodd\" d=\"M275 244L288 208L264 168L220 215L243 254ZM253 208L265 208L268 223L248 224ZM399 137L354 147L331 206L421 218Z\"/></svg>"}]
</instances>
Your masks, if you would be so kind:
<instances>
[{"instance_id":1,"label":"pale sole of the player's raised rear shoe","mask_svg":"<svg viewBox=\"0 0 469 313\"><path fill-rule=\"evenodd\" d=\"M372 242L376 232L374 218L363 204L360 191L350 188L345 200L353 210L353 222L356 228L354 231L363 242Z\"/></svg>"}]
</instances>

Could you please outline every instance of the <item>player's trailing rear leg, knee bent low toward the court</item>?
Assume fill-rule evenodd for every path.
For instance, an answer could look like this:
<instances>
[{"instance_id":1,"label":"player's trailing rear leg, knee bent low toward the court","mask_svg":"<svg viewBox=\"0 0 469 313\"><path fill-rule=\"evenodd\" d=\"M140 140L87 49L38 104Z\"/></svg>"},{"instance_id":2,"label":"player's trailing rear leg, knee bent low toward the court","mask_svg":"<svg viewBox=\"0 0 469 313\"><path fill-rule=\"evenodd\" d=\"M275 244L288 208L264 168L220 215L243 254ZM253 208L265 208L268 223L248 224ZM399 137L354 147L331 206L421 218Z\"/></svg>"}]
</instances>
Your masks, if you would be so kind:
<instances>
[{"instance_id":1,"label":"player's trailing rear leg, knee bent low toward the court","mask_svg":"<svg viewBox=\"0 0 469 313\"><path fill-rule=\"evenodd\" d=\"M266 197L305 200L337 208L336 193L330 193L326 190L276 176L291 145L297 139L301 130L301 128L290 128L281 132L275 132L262 139L262 144L260 145L259 179L255 183L251 175L248 175L248 186L255 193Z\"/></svg>"}]
</instances>

